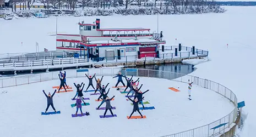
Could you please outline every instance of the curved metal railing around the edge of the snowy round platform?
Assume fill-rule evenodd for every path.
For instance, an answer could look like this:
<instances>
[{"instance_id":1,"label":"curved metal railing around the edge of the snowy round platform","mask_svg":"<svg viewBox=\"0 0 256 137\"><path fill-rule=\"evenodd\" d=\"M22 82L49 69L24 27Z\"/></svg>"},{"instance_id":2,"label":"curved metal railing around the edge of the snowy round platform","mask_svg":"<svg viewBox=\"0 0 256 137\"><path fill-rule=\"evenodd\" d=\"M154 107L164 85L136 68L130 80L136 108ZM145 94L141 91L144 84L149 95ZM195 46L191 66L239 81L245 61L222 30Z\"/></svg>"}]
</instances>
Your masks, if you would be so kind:
<instances>
[{"instance_id":1,"label":"curved metal railing around the edge of the snowy round platform","mask_svg":"<svg viewBox=\"0 0 256 137\"><path fill-rule=\"evenodd\" d=\"M77 70L67 70L67 78L70 77L84 77L85 73L94 74L96 76L114 76L119 71L121 71L124 75L127 76L139 76L139 77L156 77L156 78L165 78L170 79L172 81L184 82L187 83L188 79L193 84L199 85L200 87L213 90L214 92L225 96L228 100L233 102L235 109L230 112L228 115L220 118L219 120L203 125L198 128L190 129L181 133L176 133L172 135L166 135L170 137L210 137L224 132L225 128L230 127L233 122L236 121L237 117L237 98L236 95L224 85L219 83L210 81L208 79L203 79L195 76L184 75L181 73L175 72L167 72L167 71L159 71L159 70L145 70L145 69L138 69L138 68L89 68L84 69L84 71L77 71ZM26 76L15 76L11 78L3 78L0 79L0 88L4 87L12 87L17 85L23 84L30 84L35 82L43 82L43 81L51 81L53 79L58 79L59 72L46 72L40 73L35 75L26 75ZM217 127L220 124L227 123L225 126L216 128L213 130L212 128Z\"/></svg>"}]
</instances>

